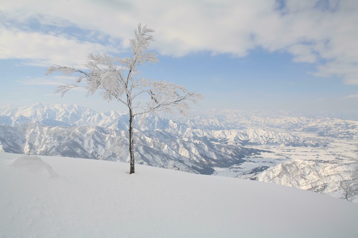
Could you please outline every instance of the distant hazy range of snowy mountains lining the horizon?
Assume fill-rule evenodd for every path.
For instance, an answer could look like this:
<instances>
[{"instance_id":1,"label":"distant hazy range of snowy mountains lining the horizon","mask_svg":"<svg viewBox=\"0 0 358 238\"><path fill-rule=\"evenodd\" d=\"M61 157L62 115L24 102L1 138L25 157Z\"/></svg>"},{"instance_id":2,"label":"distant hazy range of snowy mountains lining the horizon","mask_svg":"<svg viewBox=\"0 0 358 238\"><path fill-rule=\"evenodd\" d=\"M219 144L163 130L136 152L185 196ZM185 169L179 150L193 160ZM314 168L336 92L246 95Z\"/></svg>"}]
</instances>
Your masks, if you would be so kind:
<instances>
[{"instance_id":1,"label":"distant hazy range of snowy mountains lining the horizon","mask_svg":"<svg viewBox=\"0 0 358 238\"><path fill-rule=\"evenodd\" d=\"M238 110L208 110L194 118L174 117L166 119L147 115L140 118L137 129L154 130L168 127L184 133L188 128L199 130L245 130L265 129L275 132L309 132L320 136L353 139L358 136L358 121L331 117L289 116L287 112L244 112ZM47 126L100 126L125 130L128 128L128 115L115 111L97 113L78 105L43 105L28 107L0 107L0 125L18 126L37 122ZM252 136L247 132L247 138ZM256 133L253 131L252 133ZM255 135L254 135L255 136ZM271 135L267 135L271 136ZM247 139L246 138L246 139ZM249 138L249 139L251 139ZM292 138L290 139L292 140Z\"/></svg>"}]
</instances>

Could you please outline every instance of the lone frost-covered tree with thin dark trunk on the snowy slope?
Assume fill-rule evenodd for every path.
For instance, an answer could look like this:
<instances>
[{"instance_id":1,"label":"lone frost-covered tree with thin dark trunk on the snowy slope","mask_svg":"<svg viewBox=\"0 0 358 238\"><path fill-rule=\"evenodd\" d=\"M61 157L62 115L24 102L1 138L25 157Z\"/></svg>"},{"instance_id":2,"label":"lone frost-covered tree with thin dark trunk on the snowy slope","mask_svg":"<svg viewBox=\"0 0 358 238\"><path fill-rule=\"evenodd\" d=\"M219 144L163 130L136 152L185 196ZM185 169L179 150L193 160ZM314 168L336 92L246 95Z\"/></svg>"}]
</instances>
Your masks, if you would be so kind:
<instances>
[{"instance_id":1,"label":"lone frost-covered tree with thin dark trunk on the snowy slope","mask_svg":"<svg viewBox=\"0 0 358 238\"><path fill-rule=\"evenodd\" d=\"M121 102L129 109L129 153L130 174L134 173L134 117L141 114L156 111L172 112L176 109L185 113L189 109L189 102L197 103L202 95L189 92L184 86L154 81L141 77L138 66L146 63L158 62L154 52L148 52L148 47L153 41L152 29L141 24L134 30L135 37L130 40L132 57L113 57L107 54L87 56L86 70L73 66L53 65L48 67L46 75L60 72L65 76L75 74L74 84L59 86L55 93L62 96L69 90L77 87L85 87L87 95L93 95L97 90L103 99ZM83 85L84 84L84 85ZM139 100L141 96L141 100Z\"/></svg>"}]
</instances>

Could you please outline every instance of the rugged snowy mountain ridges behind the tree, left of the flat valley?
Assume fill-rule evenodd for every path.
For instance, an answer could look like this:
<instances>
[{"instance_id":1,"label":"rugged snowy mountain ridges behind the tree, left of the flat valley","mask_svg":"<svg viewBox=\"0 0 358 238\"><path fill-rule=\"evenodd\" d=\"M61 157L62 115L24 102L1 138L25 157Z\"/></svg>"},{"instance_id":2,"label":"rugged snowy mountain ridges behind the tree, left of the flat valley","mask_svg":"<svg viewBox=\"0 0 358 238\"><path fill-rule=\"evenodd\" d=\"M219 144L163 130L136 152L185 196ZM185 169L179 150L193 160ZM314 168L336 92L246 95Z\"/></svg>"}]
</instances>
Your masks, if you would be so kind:
<instances>
[{"instance_id":1,"label":"rugged snowy mountain ridges behind the tree, left of the flat valley","mask_svg":"<svg viewBox=\"0 0 358 238\"><path fill-rule=\"evenodd\" d=\"M0 148L5 152L26 153L32 149L34 154L84 158L98 158L107 153L103 155L107 160L129 160L124 152L128 146L126 114L96 113L77 105L42 104L22 108L3 106L0 113L3 117ZM214 166L240 164L243 157L259 153L245 144L314 145L289 133L217 129L220 127L224 125L210 117L188 123L153 115L138 118L137 162L211 174Z\"/></svg>"}]
</instances>

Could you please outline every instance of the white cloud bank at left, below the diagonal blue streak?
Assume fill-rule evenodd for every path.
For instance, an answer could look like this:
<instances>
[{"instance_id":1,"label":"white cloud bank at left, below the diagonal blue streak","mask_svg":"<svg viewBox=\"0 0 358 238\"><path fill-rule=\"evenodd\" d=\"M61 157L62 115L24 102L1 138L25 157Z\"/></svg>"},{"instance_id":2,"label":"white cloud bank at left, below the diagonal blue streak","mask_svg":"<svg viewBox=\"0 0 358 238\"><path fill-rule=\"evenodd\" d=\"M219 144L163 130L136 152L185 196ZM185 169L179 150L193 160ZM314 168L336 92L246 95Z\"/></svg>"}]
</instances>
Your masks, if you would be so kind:
<instances>
[{"instance_id":1,"label":"white cloud bank at left, below the diagonal blue streak","mask_svg":"<svg viewBox=\"0 0 358 238\"><path fill-rule=\"evenodd\" d=\"M81 66L90 52L117 51L98 43L80 42L61 35L27 32L16 28L0 27L0 39L1 59L28 59L27 64L37 66Z\"/></svg>"}]
</instances>

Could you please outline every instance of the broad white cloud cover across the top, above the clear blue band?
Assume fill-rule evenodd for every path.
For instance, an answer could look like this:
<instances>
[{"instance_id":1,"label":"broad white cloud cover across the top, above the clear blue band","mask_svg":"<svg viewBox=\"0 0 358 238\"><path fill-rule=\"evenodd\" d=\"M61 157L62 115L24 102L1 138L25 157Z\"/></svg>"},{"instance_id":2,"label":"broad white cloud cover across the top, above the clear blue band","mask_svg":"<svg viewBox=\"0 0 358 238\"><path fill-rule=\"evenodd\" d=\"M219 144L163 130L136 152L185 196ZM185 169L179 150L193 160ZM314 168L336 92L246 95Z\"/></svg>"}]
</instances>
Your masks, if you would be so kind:
<instances>
[{"instance_id":1,"label":"broad white cloud cover across the top, above the clear blue band","mask_svg":"<svg viewBox=\"0 0 358 238\"><path fill-rule=\"evenodd\" d=\"M142 22L156 31L153 46L162 54L210 51L245 56L255 47L283 50L293 61L317 63L318 76L338 75L347 84L358 84L358 1L284 2L277 9L275 0L4 0L0 16L18 25L36 20L100 32L99 39L105 35L113 43L123 40L117 49L129 46L132 30ZM89 52L113 50L64 35L0 30L7 45L1 57L28 58L33 64L79 64Z\"/></svg>"}]
</instances>

